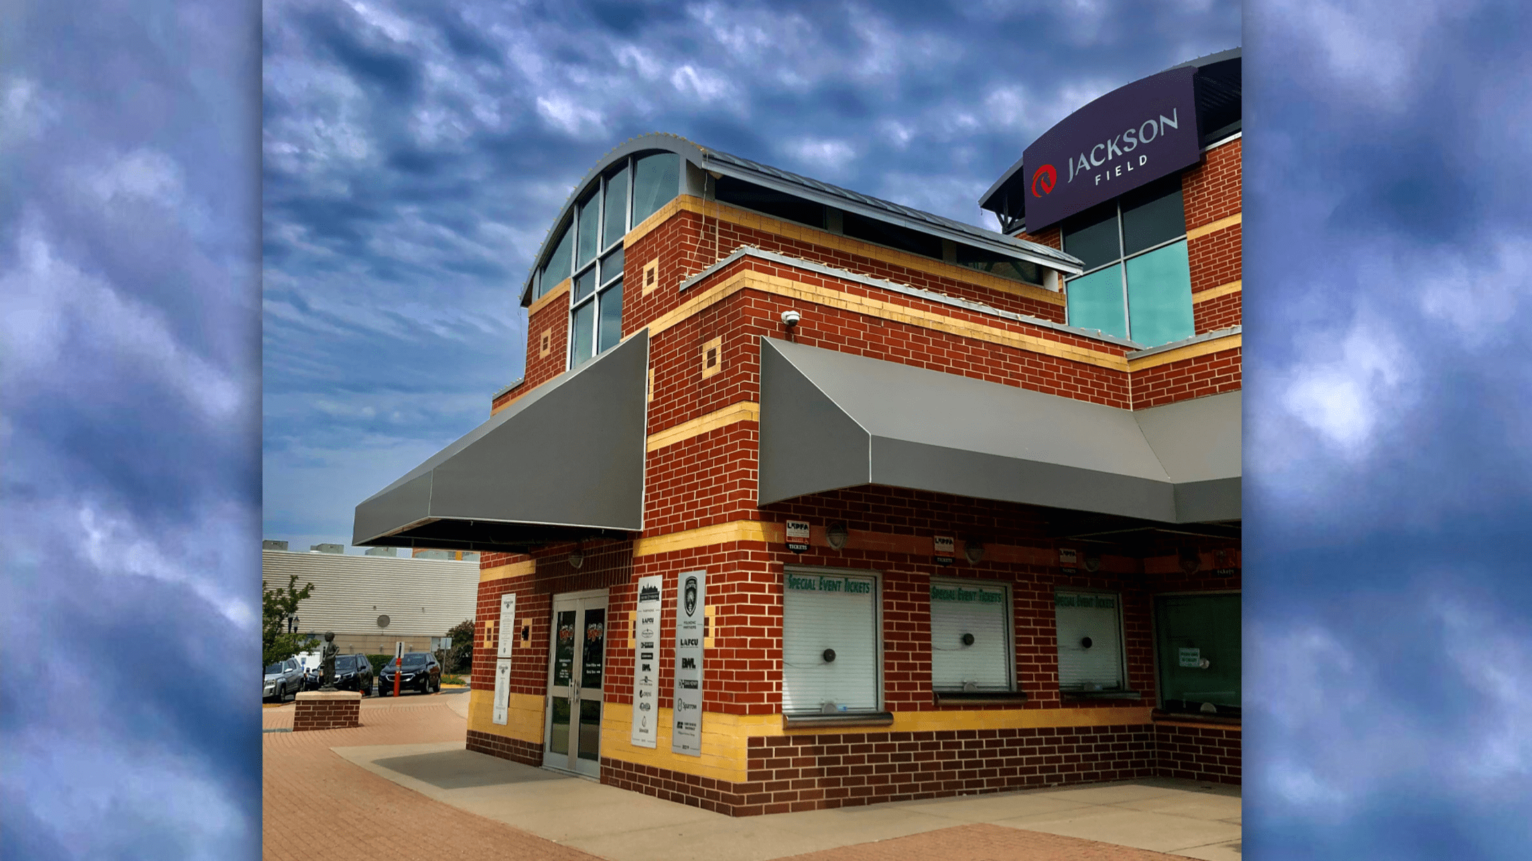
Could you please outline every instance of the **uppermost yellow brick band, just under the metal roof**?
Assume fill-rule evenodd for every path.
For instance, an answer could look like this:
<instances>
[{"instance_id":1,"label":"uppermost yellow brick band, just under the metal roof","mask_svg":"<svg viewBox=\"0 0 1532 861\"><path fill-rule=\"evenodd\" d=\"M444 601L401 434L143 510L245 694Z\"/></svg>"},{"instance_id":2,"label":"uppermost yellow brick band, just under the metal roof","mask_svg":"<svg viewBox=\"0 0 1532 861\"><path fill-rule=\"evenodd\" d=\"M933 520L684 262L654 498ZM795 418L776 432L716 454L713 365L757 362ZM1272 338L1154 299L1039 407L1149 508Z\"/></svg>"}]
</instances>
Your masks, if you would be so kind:
<instances>
[{"instance_id":1,"label":"uppermost yellow brick band, just under the metal roof","mask_svg":"<svg viewBox=\"0 0 1532 861\"><path fill-rule=\"evenodd\" d=\"M818 230L803 224L792 224L791 221L778 221L771 216L763 216L758 213L740 210L728 204L720 204L717 201L702 201L700 198L692 198L691 195L680 195L671 202L665 204L654 214L643 219L642 224L628 231L622 237L622 247L628 248L647 233L665 224L666 219L679 211L696 213L705 218L717 218L719 221L726 221L729 224L737 224L740 227L751 227L763 233L774 233L787 239L797 239L800 242L807 242L810 245L818 245L821 248L835 248L838 251L846 251L847 254L856 254L858 257L870 257L884 264L892 264L896 267L904 267L907 270L915 270L925 274L950 277L962 283L971 283L974 286L982 286L987 290L994 290L999 293L1008 293L1011 296L1022 296L1025 299L1036 299L1037 302L1046 302L1049 305L1063 305L1065 297L1060 293L1051 290L1043 290L1042 286L1033 286L1022 282L1014 282L999 276L991 276L988 273L980 273L979 270L970 270L968 267L959 267L958 264L945 264L942 260L935 260L931 257L921 257L919 254L910 254L905 251L895 251L893 248L884 248L882 245L872 245L861 242L858 239L850 239L847 236L840 236L836 233L829 233L826 230ZM717 250L715 257L723 259L729 256L734 250L729 248Z\"/></svg>"}]
</instances>

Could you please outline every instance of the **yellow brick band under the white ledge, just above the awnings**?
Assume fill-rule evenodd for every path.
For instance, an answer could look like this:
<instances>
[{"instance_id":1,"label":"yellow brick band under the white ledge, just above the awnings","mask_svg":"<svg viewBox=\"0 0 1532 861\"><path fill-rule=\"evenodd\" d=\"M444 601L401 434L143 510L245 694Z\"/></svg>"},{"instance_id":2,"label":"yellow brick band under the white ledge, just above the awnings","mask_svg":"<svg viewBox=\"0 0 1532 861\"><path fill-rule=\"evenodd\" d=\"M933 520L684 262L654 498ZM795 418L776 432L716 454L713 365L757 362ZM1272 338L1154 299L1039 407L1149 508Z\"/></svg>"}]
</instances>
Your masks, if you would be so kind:
<instances>
[{"instance_id":1,"label":"yellow brick band under the white ledge, just above the awnings","mask_svg":"<svg viewBox=\"0 0 1532 861\"><path fill-rule=\"evenodd\" d=\"M815 305L824 305L827 308L836 308L852 314L864 314L869 317L878 317L881 320L890 320L895 323L905 323L924 329L941 331L958 337L982 340L987 343L999 343L1005 346L1013 346L1016 349L1025 349L1028 352L1040 352L1043 355L1052 355L1056 358L1065 358L1069 362L1082 362L1086 365L1109 368L1112 371L1128 371L1128 360L1123 358L1121 355L1114 355L1111 352L1102 352L1097 349L1089 349L1069 343L1060 343L1039 336L1028 336L1010 329L987 326L984 323L959 320L956 317L948 317L947 314L938 314L935 311L922 311L919 308L910 308L907 305L899 305L895 302L884 302L881 299L873 299L870 296L858 296L855 293L844 293L827 286L815 286L751 270L735 273L728 279L725 279L723 282L715 283L714 286L709 286L703 293L694 296L674 311L662 314L660 317L657 317L654 322L650 323L650 337L651 339L657 337L665 329L686 320L688 317L719 302L723 302L725 299L734 296L741 290L755 290L760 293L781 296L786 299L798 299L801 302L812 302Z\"/></svg>"}]
</instances>

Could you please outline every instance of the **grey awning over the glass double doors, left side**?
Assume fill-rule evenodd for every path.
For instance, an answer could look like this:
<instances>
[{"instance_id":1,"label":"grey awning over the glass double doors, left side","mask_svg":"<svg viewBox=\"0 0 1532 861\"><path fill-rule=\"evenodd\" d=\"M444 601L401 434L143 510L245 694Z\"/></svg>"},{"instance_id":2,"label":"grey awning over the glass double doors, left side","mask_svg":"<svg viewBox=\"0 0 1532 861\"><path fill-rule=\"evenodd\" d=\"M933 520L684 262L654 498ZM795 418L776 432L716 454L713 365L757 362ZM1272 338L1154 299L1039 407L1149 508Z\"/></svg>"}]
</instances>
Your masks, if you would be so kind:
<instances>
[{"instance_id":1,"label":"grey awning over the glass double doors, left side","mask_svg":"<svg viewBox=\"0 0 1532 861\"><path fill-rule=\"evenodd\" d=\"M640 331L357 506L358 547L525 548L643 529Z\"/></svg>"}]
</instances>

